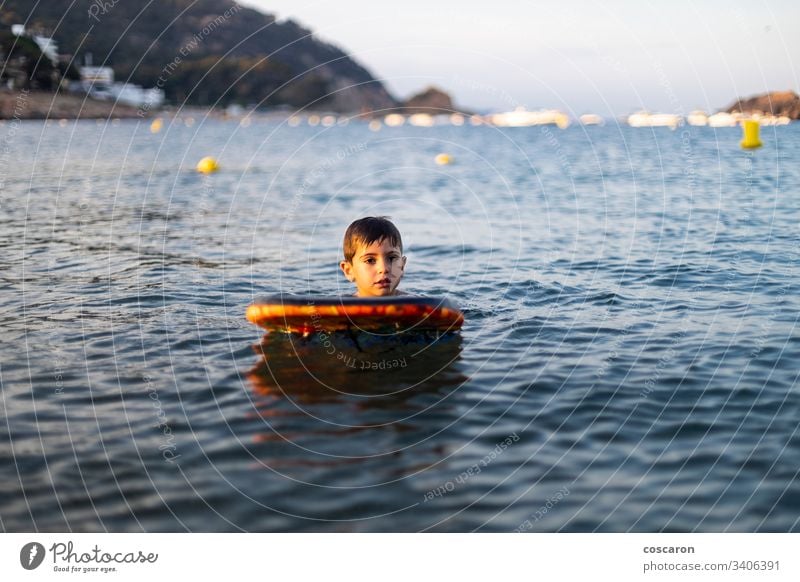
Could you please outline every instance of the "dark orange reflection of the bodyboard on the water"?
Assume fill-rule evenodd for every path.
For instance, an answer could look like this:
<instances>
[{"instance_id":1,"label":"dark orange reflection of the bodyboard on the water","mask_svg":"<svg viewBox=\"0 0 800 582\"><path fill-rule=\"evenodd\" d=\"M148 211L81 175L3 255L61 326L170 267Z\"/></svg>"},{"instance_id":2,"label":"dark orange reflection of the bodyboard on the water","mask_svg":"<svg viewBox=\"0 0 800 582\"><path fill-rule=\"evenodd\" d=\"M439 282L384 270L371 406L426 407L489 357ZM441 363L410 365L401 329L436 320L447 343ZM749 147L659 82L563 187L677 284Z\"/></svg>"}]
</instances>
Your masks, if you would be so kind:
<instances>
[{"instance_id":1,"label":"dark orange reflection of the bodyboard on the water","mask_svg":"<svg viewBox=\"0 0 800 582\"><path fill-rule=\"evenodd\" d=\"M468 380L460 370L461 343L458 333L389 338L364 332L265 334L254 346L259 360L247 374L257 395L255 417L268 428L254 435L254 442L291 442L310 454L303 458L270 454L261 456L260 464L281 471L334 469L404 454L408 445L386 443L413 438L422 428L415 416L424 415ZM347 411L344 417L342 410ZM424 431L442 428L427 425ZM381 433L395 436L387 440ZM395 440L397 436L401 441ZM326 442L342 438L348 439L349 447ZM435 455L425 460L427 455L419 450L412 456L416 460L390 471L390 479L436 462Z\"/></svg>"}]
</instances>

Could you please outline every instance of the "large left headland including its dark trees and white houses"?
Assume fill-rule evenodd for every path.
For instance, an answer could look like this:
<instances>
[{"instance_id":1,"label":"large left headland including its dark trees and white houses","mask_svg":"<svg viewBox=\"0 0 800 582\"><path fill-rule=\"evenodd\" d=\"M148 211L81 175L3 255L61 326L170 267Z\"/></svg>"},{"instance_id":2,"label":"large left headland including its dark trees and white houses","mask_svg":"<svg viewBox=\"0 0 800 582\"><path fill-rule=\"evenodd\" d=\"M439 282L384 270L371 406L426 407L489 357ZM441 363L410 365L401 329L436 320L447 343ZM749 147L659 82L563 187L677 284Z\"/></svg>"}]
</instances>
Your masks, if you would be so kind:
<instances>
[{"instance_id":1,"label":"large left headland including its dark trees and white houses","mask_svg":"<svg viewBox=\"0 0 800 582\"><path fill-rule=\"evenodd\" d=\"M353 112L397 105L341 49L292 20L279 22L232 0L6 0L0 55L6 64L0 84L12 91L82 91L96 101L130 96L128 104L139 94L144 113L156 106L141 107L152 102L144 99L147 91L165 103L219 109Z\"/></svg>"}]
</instances>

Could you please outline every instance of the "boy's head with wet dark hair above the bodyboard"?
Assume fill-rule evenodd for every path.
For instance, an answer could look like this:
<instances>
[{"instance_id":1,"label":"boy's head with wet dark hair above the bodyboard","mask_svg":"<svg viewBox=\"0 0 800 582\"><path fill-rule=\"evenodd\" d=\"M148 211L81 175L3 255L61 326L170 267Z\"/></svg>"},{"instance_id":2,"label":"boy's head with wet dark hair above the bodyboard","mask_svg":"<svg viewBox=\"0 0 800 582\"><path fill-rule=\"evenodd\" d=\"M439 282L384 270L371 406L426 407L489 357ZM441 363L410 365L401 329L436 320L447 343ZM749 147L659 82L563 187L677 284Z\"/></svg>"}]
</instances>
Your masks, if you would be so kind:
<instances>
[{"instance_id":1,"label":"boy's head with wet dark hair above the bodyboard","mask_svg":"<svg viewBox=\"0 0 800 582\"><path fill-rule=\"evenodd\" d=\"M395 295L406 257L400 231L385 216L356 220L344 233L344 276L356 284L359 297Z\"/></svg>"}]
</instances>

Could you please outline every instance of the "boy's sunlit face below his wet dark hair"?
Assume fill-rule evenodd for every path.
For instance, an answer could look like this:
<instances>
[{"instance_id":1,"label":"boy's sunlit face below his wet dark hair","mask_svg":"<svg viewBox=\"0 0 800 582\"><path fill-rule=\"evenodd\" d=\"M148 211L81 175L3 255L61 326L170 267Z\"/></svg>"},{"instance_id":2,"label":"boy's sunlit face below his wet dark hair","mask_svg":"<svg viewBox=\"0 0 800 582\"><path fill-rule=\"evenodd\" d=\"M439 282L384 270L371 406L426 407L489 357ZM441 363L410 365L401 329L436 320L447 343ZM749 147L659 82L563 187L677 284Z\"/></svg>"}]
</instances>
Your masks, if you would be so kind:
<instances>
[{"instance_id":1,"label":"boy's sunlit face below his wet dark hair","mask_svg":"<svg viewBox=\"0 0 800 582\"><path fill-rule=\"evenodd\" d=\"M356 284L359 297L394 295L403 278L406 258L400 247L392 246L388 238L360 246L353 262L342 261L339 266L345 277Z\"/></svg>"}]
</instances>

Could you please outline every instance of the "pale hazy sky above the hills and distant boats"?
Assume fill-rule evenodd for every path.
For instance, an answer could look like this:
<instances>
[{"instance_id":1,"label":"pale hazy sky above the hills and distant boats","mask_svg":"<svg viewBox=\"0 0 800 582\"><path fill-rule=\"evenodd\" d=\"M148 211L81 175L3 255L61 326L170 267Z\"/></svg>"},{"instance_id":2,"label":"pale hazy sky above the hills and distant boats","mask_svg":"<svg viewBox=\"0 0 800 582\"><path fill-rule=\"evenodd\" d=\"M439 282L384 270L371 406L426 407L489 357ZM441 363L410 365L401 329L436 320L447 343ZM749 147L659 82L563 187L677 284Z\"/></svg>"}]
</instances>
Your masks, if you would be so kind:
<instances>
[{"instance_id":1,"label":"pale hazy sky above the hills and distant boats","mask_svg":"<svg viewBox=\"0 0 800 582\"><path fill-rule=\"evenodd\" d=\"M478 111L713 112L800 92L798 0L240 0L348 52L398 98Z\"/></svg>"}]
</instances>

